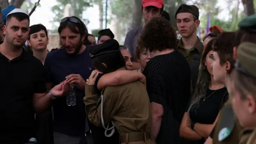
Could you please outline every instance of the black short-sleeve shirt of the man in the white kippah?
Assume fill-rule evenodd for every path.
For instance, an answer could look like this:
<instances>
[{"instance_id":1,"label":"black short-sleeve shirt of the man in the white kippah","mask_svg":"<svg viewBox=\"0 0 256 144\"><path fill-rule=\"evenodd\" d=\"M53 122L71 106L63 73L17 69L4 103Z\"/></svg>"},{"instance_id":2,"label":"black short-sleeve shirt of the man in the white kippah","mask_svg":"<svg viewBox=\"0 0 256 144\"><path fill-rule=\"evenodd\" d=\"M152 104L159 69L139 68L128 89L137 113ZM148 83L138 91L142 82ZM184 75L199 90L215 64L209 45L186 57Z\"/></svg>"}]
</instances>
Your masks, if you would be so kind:
<instances>
[{"instance_id":1,"label":"black short-sleeve shirt of the man in the white kippah","mask_svg":"<svg viewBox=\"0 0 256 144\"><path fill-rule=\"evenodd\" d=\"M0 143L36 138L33 94L45 93L42 62L23 50L13 60L0 53Z\"/></svg>"}]
</instances>

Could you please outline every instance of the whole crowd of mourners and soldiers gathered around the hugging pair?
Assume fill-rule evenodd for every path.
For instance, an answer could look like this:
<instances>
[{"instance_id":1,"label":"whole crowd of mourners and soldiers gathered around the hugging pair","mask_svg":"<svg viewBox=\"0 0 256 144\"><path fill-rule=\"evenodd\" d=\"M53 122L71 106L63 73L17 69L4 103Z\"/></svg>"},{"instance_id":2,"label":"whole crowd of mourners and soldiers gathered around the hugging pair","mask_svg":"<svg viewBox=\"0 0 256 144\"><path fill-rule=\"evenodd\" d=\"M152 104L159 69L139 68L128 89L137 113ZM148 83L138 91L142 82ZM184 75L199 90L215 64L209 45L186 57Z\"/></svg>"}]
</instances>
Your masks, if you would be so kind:
<instances>
[{"instance_id":1,"label":"whole crowd of mourners and soldiers gathered around the hugging pair","mask_svg":"<svg viewBox=\"0 0 256 144\"><path fill-rule=\"evenodd\" d=\"M141 13L123 45L65 17L48 52L44 25L0 9L0 144L256 144L256 15L201 42L197 6Z\"/></svg>"}]
</instances>

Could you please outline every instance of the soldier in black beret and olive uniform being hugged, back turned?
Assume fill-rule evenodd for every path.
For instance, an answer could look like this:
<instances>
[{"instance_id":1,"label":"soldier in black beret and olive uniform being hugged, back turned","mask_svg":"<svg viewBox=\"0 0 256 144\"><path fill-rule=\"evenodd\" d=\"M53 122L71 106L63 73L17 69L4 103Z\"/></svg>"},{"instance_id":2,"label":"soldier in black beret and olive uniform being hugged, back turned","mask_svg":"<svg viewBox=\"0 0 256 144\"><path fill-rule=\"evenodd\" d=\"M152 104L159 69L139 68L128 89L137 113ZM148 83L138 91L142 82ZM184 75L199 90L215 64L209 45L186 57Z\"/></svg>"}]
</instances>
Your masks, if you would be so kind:
<instances>
[{"instance_id":1,"label":"soldier in black beret and olive uniform being hugged, back turned","mask_svg":"<svg viewBox=\"0 0 256 144\"><path fill-rule=\"evenodd\" d=\"M107 40L93 46L90 55L94 67L104 74L125 70L125 62L116 40ZM101 102L97 104L99 96L94 89L95 75L95 71L92 72L85 87L84 103L88 119L104 128L105 124L112 122L120 134L121 143L155 144L150 136L152 114L144 84L137 80L119 86L107 86L102 90ZM107 126L105 130L112 130L113 133L114 127Z\"/></svg>"}]
</instances>

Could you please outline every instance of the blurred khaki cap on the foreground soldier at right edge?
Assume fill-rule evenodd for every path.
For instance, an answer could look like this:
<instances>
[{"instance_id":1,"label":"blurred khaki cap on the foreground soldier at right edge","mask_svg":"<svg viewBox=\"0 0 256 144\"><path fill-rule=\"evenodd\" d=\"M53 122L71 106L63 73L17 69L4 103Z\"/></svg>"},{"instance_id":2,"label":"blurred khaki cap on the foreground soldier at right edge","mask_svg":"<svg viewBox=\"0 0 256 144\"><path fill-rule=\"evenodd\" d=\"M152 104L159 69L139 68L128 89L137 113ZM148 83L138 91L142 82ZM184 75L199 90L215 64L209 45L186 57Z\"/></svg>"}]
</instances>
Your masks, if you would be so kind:
<instances>
[{"instance_id":1,"label":"blurred khaki cap on the foreground soldier at right edge","mask_svg":"<svg viewBox=\"0 0 256 144\"><path fill-rule=\"evenodd\" d=\"M244 42L237 48L236 70L256 78L256 44Z\"/></svg>"}]
</instances>

